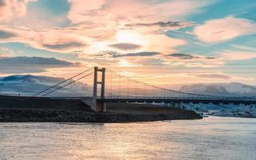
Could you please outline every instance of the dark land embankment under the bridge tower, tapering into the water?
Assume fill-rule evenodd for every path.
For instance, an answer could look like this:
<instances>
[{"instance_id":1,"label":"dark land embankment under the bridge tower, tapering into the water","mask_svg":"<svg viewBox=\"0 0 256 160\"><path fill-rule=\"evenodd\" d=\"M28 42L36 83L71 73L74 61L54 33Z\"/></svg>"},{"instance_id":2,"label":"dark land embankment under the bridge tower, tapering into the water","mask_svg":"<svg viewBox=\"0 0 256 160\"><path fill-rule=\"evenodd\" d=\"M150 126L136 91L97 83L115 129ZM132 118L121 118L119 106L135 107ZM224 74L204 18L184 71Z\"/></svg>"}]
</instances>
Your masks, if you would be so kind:
<instances>
[{"instance_id":1,"label":"dark land embankment under the bridge tower, tapering into the water","mask_svg":"<svg viewBox=\"0 0 256 160\"><path fill-rule=\"evenodd\" d=\"M0 96L0 122L149 122L202 118L194 111L150 104L107 103L96 113L79 99Z\"/></svg>"}]
</instances>

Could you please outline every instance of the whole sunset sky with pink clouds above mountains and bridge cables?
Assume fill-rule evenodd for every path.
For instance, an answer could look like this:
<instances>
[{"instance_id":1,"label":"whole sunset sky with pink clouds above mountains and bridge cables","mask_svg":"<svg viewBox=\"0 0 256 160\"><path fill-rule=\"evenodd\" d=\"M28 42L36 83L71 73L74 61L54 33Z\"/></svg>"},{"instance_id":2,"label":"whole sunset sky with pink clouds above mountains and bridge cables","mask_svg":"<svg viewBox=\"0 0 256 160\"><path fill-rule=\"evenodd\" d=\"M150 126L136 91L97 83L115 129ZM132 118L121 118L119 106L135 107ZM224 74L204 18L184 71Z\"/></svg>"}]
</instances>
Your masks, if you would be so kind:
<instances>
[{"instance_id":1,"label":"whole sunset sky with pink clouds above mountains and bridge cables","mask_svg":"<svg viewBox=\"0 0 256 160\"><path fill-rule=\"evenodd\" d=\"M255 0L0 0L0 76L106 67L158 85L256 84Z\"/></svg>"}]
</instances>

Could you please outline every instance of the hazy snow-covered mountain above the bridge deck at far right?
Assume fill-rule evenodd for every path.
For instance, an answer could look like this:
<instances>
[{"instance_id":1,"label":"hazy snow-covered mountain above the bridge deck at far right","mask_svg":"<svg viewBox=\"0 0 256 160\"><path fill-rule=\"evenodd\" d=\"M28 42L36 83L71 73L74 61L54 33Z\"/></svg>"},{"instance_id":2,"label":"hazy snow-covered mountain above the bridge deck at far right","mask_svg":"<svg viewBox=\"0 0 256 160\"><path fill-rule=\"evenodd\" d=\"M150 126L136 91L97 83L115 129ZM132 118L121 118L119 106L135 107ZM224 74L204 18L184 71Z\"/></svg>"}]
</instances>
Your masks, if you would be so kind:
<instances>
[{"instance_id":1,"label":"hazy snow-covered mountain above the bridge deck at far right","mask_svg":"<svg viewBox=\"0 0 256 160\"><path fill-rule=\"evenodd\" d=\"M256 86L249 86L238 82L188 84L183 85L180 90L198 94L256 96Z\"/></svg>"}]
</instances>

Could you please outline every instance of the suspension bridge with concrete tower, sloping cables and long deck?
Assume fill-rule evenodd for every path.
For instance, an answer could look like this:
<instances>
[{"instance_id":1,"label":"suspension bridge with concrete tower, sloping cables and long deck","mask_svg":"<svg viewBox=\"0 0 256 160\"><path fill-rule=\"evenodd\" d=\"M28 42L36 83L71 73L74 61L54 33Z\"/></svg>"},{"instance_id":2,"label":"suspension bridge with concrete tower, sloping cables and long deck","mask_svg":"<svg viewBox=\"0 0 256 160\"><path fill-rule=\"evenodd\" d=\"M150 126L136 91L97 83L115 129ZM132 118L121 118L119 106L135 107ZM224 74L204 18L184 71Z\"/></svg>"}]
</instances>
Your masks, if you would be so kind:
<instances>
[{"instance_id":1,"label":"suspension bridge with concrete tower, sloping cables and long deck","mask_svg":"<svg viewBox=\"0 0 256 160\"><path fill-rule=\"evenodd\" d=\"M85 89L90 95L79 97L51 96L54 92L82 79L86 79L88 84L91 84ZM170 90L98 66L58 82L34 94L32 98L81 99L92 109L101 112L106 111L106 102L170 103L173 105L182 103L256 104L256 97L216 96Z\"/></svg>"}]
</instances>

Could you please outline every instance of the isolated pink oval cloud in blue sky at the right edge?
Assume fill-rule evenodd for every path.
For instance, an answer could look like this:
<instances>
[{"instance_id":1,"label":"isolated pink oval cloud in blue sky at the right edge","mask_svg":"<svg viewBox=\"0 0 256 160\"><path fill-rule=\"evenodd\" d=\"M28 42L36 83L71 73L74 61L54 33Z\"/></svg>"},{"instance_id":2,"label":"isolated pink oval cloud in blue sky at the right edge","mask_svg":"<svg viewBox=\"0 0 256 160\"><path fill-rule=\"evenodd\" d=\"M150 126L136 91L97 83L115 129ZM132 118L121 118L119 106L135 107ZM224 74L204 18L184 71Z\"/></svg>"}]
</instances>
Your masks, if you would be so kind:
<instances>
[{"instance_id":1,"label":"isolated pink oval cloud in blue sky at the right edge","mask_svg":"<svg viewBox=\"0 0 256 160\"><path fill-rule=\"evenodd\" d=\"M243 18L227 17L205 22L194 34L206 43L222 42L242 35L256 34L256 23Z\"/></svg>"}]
</instances>

